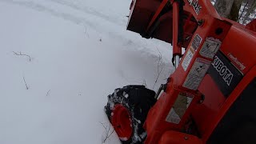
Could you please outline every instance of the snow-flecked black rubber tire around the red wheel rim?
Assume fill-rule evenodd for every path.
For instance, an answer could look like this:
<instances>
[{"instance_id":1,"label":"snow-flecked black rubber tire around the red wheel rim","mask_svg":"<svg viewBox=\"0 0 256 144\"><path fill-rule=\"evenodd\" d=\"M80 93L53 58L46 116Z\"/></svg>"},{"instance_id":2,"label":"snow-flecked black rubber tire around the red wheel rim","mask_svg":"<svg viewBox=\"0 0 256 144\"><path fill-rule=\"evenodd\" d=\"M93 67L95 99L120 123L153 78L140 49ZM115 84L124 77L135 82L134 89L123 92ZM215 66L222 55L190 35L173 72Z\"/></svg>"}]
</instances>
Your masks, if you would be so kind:
<instances>
[{"instance_id":1,"label":"snow-flecked black rubber tire around the red wheel rim","mask_svg":"<svg viewBox=\"0 0 256 144\"><path fill-rule=\"evenodd\" d=\"M146 131L143 124L146 120L148 111L157 101L154 98L155 92L146 89L145 86L124 86L114 90L113 94L108 96L108 102L105 106L106 115L110 122L114 115L114 106L122 105L130 113L130 126L132 134L130 138L121 138L122 143L142 143L146 139ZM114 127L115 129L115 127Z\"/></svg>"}]
</instances>

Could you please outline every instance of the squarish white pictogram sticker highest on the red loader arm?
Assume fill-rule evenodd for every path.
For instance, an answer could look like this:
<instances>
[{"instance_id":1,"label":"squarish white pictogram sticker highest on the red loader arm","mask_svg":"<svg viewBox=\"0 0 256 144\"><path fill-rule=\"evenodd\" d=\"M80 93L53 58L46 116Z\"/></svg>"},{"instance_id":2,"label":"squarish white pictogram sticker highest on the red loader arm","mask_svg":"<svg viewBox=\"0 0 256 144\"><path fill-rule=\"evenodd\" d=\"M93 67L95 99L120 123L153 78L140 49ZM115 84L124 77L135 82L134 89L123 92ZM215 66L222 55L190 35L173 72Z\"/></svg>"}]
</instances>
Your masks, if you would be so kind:
<instances>
[{"instance_id":1,"label":"squarish white pictogram sticker highest on the red loader arm","mask_svg":"<svg viewBox=\"0 0 256 144\"><path fill-rule=\"evenodd\" d=\"M206 41L202 45L200 54L206 58L214 58L222 42L216 38L206 38Z\"/></svg>"}]
</instances>

